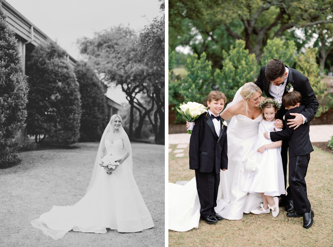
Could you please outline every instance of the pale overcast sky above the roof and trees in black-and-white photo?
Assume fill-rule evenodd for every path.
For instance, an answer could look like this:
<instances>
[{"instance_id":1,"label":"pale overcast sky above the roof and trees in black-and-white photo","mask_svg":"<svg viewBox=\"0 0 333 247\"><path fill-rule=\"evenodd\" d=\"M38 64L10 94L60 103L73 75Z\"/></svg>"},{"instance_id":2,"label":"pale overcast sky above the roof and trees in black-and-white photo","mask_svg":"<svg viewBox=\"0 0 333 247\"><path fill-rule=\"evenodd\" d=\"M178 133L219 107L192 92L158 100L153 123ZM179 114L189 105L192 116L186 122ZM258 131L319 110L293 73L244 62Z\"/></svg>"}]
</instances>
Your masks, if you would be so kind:
<instances>
[{"instance_id":1,"label":"pale overcast sky above the roof and trees in black-and-white photo","mask_svg":"<svg viewBox=\"0 0 333 247\"><path fill-rule=\"evenodd\" d=\"M139 31L154 17L162 16L158 0L6 1L75 59L80 59L78 38L92 38L94 32L119 24ZM126 101L124 94L119 96L122 92L113 91L107 95L118 103Z\"/></svg>"}]
</instances>

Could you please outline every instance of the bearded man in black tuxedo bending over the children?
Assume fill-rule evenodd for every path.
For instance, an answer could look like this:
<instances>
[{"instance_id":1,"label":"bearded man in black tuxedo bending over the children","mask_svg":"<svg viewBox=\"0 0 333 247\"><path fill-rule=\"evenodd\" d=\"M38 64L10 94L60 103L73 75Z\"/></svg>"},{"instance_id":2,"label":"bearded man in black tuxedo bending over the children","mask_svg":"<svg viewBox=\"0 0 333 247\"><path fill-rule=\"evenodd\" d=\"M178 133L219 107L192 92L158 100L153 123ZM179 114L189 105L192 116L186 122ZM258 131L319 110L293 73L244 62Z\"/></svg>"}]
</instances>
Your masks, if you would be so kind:
<instances>
[{"instance_id":1,"label":"bearded man in black tuxedo bending over the children","mask_svg":"<svg viewBox=\"0 0 333 247\"><path fill-rule=\"evenodd\" d=\"M260 73L255 84L265 92L267 97L273 98L280 103L281 109L278 111L277 119L279 121L275 124L276 127L282 127L283 122L281 119L286 113L285 106L282 105L282 96L287 93L287 86L293 87L293 90L298 91L302 94L302 104L304 104L305 109L301 113L291 113L290 115L295 116L294 119L288 120L289 126L283 126L285 128L294 127L296 129L301 124L310 122L314 115L316 115L319 103L316 96L311 88L309 79L304 76L298 70L289 68L284 65L279 59L271 59L268 61L266 66L262 66ZM284 186L287 185L287 162L288 162L288 140L282 141L281 147L281 157L282 166L284 173ZM280 202L285 205L285 210L287 212L294 211L294 204L291 194L290 186L287 188L287 195L280 196Z\"/></svg>"}]
</instances>

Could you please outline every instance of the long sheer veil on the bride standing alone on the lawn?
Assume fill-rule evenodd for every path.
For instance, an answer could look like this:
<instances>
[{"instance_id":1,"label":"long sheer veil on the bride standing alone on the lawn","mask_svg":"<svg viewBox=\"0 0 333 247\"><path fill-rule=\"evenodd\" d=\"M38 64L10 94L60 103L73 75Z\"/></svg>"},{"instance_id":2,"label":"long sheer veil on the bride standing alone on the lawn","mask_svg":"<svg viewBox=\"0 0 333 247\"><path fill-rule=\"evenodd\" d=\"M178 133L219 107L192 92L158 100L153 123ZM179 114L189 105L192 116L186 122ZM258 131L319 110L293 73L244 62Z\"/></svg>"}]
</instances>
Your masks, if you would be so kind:
<instances>
[{"instance_id":1,"label":"long sheer veil on the bride standing alone on the lawn","mask_svg":"<svg viewBox=\"0 0 333 247\"><path fill-rule=\"evenodd\" d=\"M116 117L120 118L120 120L122 122L122 126L119 128L120 138L123 140L125 150L127 150L129 152L129 154L130 154L127 157L126 161L127 161L128 165L130 166L131 171L133 173L133 156L132 156L133 153L132 153L131 142L130 142L130 139L128 138L127 133L125 132L125 129L123 128L123 120L122 120L122 118L119 115L115 114L115 115L112 115L109 124L106 126L106 128L105 128L105 130L103 132L103 135L102 135L102 138L101 138L101 141L100 141L100 145L98 147L97 155L96 155L96 160L95 160L94 169L93 169L93 175L91 176L90 183L89 183L89 186L88 186L86 194L97 183L98 174L99 174L100 170L103 169L99 165L99 163L102 162L101 161L101 158L102 158L101 157L101 153L102 153L102 150L105 148L105 136L108 133L112 133L113 134L112 122L115 120Z\"/></svg>"}]
</instances>

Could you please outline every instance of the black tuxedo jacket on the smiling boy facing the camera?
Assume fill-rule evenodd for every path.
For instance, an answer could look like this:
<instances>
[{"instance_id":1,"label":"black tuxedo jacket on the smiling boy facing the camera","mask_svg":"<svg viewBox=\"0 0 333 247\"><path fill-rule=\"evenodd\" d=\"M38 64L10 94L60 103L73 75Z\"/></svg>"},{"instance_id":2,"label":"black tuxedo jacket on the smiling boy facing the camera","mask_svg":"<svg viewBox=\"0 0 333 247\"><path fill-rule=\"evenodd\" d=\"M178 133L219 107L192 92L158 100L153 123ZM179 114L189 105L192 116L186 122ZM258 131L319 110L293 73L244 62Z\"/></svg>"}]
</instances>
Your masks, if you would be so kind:
<instances>
[{"instance_id":1,"label":"black tuxedo jacket on the smiling boy facing the camera","mask_svg":"<svg viewBox=\"0 0 333 247\"><path fill-rule=\"evenodd\" d=\"M213 121L208 113L203 113L195 120L189 141L189 168L200 172L216 174L221 169L228 169L227 127L222 125L220 135L217 136ZM223 126L223 128L222 128Z\"/></svg>"}]
</instances>

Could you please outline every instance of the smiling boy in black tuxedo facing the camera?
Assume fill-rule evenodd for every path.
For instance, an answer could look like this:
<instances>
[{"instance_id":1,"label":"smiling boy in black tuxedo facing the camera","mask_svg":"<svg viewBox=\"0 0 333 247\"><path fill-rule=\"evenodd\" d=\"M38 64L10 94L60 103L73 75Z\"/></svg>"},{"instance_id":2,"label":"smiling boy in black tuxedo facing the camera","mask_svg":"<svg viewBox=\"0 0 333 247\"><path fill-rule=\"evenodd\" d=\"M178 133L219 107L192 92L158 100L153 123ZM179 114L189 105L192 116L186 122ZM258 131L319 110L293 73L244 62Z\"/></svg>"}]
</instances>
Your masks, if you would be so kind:
<instances>
[{"instance_id":1,"label":"smiling boy in black tuxedo facing the camera","mask_svg":"<svg viewBox=\"0 0 333 247\"><path fill-rule=\"evenodd\" d=\"M208 95L208 113L201 114L189 142L189 168L195 170L196 189L200 201L200 214L206 223L222 220L216 207L220 170L228 168L227 126L219 116L226 97L219 91Z\"/></svg>"}]
</instances>

